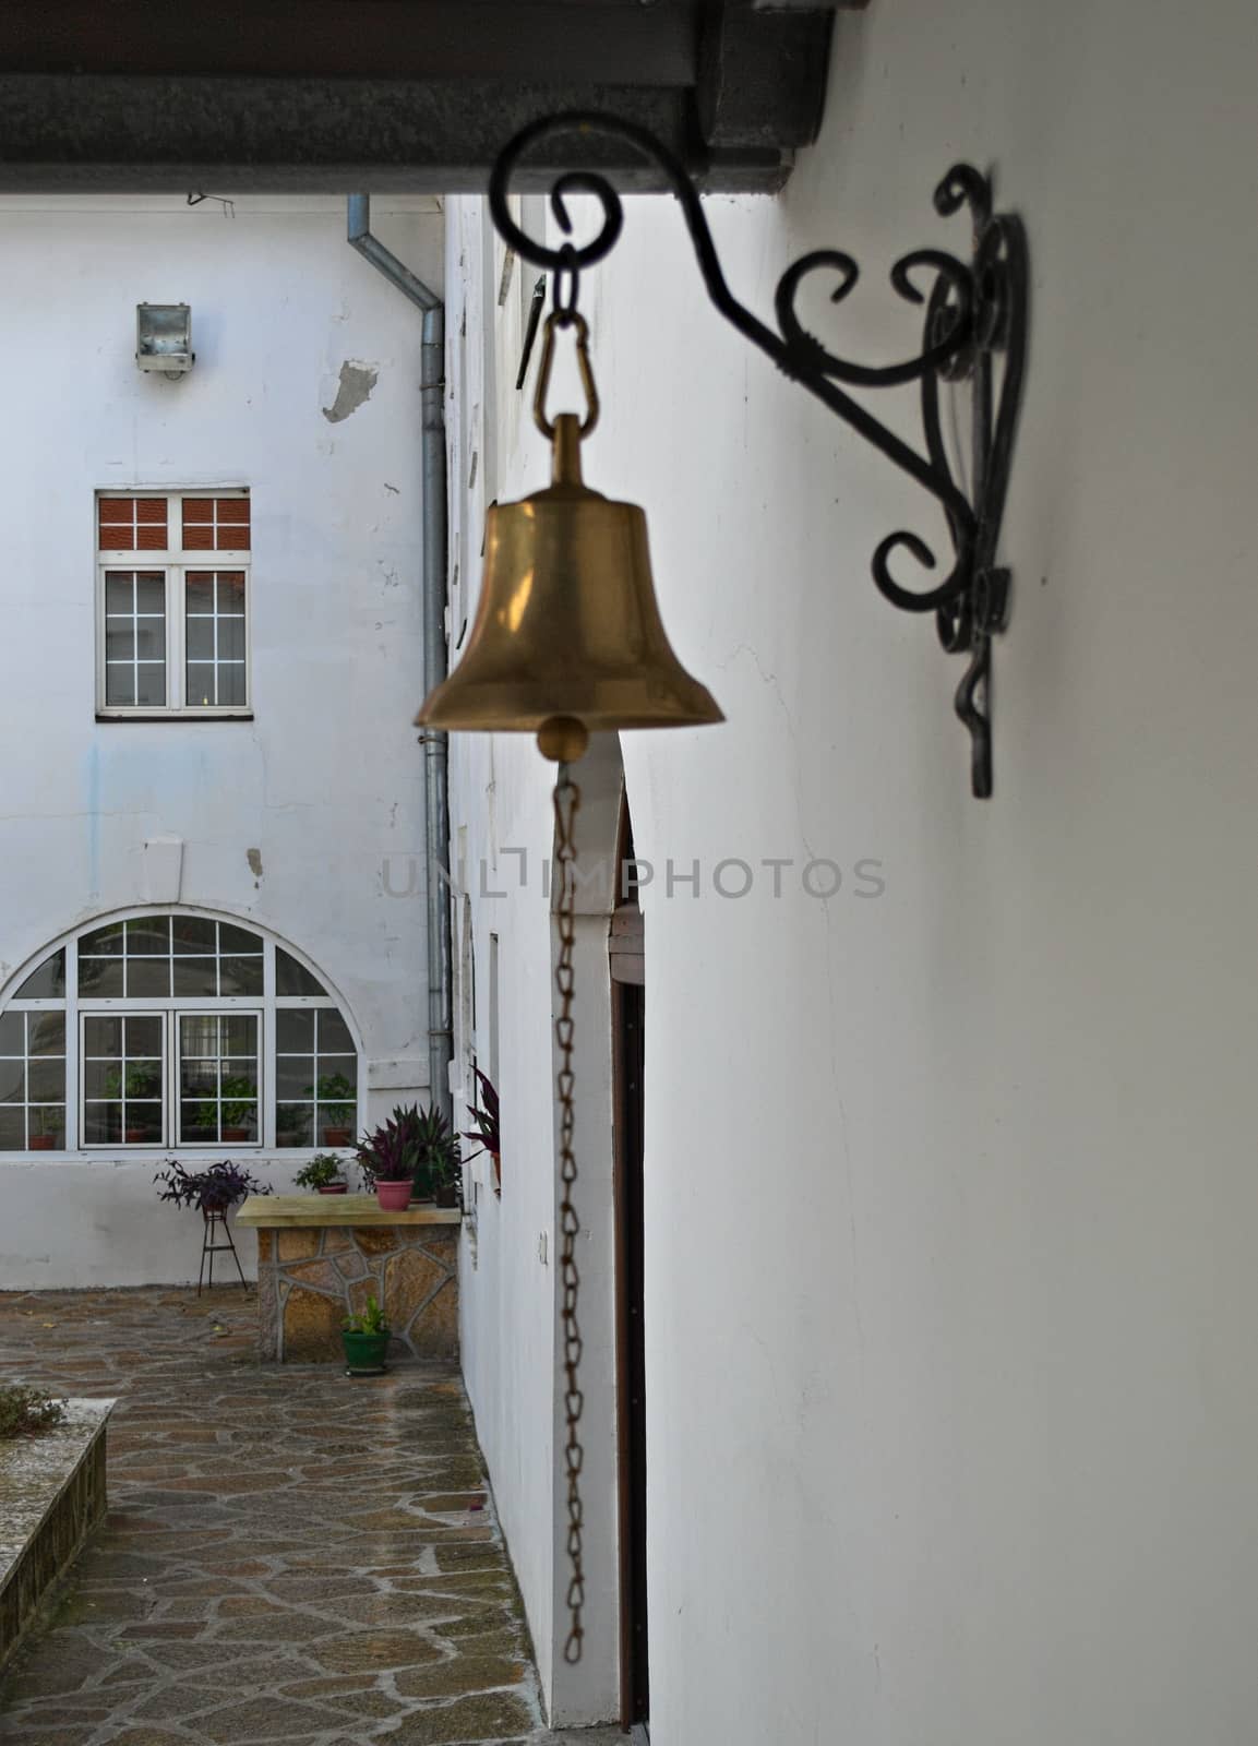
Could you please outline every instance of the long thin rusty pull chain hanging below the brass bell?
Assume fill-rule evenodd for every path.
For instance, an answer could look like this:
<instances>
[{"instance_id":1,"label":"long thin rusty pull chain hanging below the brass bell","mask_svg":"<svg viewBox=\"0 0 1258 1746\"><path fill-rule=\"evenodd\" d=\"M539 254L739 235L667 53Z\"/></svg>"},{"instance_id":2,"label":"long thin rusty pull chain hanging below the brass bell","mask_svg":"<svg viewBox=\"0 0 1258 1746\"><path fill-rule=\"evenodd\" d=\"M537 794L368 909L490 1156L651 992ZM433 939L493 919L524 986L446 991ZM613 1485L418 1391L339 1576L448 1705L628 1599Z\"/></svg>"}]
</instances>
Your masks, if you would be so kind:
<instances>
[{"instance_id":1,"label":"long thin rusty pull chain hanging below the brass bell","mask_svg":"<svg viewBox=\"0 0 1258 1746\"><path fill-rule=\"evenodd\" d=\"M572 945L576 939L576 838L572 826L581 808L581 789L569 773L569 766L558 766L555 782L555 876L558 883L558 964L555 967L555 988L558 990L558 1014L555 1018L555 1042L558 1046L560 1067L558 1086L558 1159L564 1198L560 1201L560 1289L564 1320L564 1423L567 1439L564 1444L564 1465L567 1470L567 1557L569 1585L567 1612L569 1634L564 1645L564 1660L576 1664L581 1660L585 1626L585 1566L583 1566L583 1531L585 1512L581 1505L581 1467L585 1449L581 1447L581 1323L578 1320L578 1301L581 1296L581 1273L576 1264L576 1240L581 1222L572 1205L576 1186L576 1152L572 1149L574 1114L572 1114Z\"/></svg>"}]
</instances>

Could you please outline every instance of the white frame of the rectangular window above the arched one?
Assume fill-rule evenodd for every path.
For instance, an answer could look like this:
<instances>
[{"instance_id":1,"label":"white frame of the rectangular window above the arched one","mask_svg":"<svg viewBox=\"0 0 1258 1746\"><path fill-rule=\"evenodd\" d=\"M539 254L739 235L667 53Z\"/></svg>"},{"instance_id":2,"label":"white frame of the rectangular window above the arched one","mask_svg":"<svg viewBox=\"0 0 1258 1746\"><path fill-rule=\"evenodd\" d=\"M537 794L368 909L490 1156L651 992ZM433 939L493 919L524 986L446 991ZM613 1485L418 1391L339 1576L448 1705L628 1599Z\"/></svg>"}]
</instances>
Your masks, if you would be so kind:
<instances>
[{"instance_id":1,"label":"white frame of the rectangular window above the arched one","mask_svg":"<svg viewBox=\"0 0 1258 1746\"><path fill-rule=\"evenodd\" d=\"M166 536L174 543L154 552L101 552L101 498L161 498L166 503ZM248 485L183 485L180 491L115 491L101 487L92 498L92 548L96 552L96 719L98 721L251 721L253 719L253 573L251 550L185 552L183 499L250 498ZM250 540L253 531L250 527ZM244 574L244 702L187 702L187 587L188 571L236 569ZM166 581L166 702L106 704L105 684L105 578L110 571L150 571Z\"/></svg>"}]
</instances>

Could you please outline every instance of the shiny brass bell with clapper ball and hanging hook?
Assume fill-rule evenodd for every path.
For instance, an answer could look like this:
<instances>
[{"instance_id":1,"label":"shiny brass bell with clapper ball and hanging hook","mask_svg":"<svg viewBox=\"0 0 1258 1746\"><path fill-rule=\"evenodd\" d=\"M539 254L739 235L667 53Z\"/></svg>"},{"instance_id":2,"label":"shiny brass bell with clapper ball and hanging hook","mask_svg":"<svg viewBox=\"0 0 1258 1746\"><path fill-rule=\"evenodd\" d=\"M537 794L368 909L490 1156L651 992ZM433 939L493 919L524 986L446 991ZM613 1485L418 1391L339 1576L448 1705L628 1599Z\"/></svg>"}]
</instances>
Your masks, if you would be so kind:
<instances>
[{"instance_id":1,"label":"shiny brass bell with clapper ball and hanging hook","mask_svg":"<svg viewBox=\"0 0 1258 1746\"><path fill-rule=\"evenodd\" d=\"M572 321L590 414L585 423L574 412L546 419L548 323L534 410L555 445L553 480L489 512L468 651L415 718L454 733L536 732L541 751L562 761L579 758L595 732L724 721L660 622L646 515L581 482L581 438L593 430L598 402L585 321Z\"/></svg>"}]
</instances>

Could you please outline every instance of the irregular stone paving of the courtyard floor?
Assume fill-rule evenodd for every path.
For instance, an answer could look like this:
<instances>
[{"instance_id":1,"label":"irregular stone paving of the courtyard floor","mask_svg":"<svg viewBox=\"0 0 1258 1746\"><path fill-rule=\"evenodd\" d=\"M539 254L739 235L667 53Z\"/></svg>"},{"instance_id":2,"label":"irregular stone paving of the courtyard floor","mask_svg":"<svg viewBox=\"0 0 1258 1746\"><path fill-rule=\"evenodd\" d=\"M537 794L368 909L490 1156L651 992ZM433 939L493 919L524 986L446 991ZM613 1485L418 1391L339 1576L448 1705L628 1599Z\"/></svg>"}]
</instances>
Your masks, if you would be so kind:
<instances>
[{"instance_id":1,"label":"irregular stone paving of the courtyard floor","mask_svg":"<svg viewBox=\"0 0 1258 1746\"><path fill-rule=\"evenodd\" d=\"M0 1374L119 1397L5 1746L623 1743L541 1725L455 1367L258 1365L237 1287L0 1294Z\"/></svg>"}]
</instances>

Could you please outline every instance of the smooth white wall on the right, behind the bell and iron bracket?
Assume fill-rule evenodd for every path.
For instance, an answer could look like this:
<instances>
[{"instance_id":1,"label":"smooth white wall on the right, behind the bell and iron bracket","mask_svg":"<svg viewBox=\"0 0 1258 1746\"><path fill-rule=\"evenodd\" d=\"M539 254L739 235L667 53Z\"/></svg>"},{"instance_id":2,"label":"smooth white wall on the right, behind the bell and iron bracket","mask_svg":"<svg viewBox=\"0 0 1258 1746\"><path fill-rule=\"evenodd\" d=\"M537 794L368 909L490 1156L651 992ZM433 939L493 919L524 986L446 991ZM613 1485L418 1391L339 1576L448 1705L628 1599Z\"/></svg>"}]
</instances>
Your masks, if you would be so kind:
<instances>
[{"instance_id":1,"label":"smooth white wall on the right, behind the bell and iron bracket","mask_svg":"<svg viewBox=\"0 0 1258 1746\"><path fill-rule=\"evenodd\" d=\"M722 327L668 203L585 288L586 475L647 505L729 718L625 735L639 852L705 870L644 894L654 1746L1253 1739L1256 56L1239 0L839 14L787 194L708 203L761 313L806 250L860 258L850 306L806 306L858 358L914 346L885 269L956 236L956 157L1026 218L988 805L958 663L867 574L888 529L940 536L928 506ZM499 435L494 487L541 482L518 412ZM469 843L546 847L527 744L454 768ZM844 883L721 899L729 856ZM539 901L473 901L508 1161L464 1339L544 1657Z\"/></svg>"}]
</instances>

